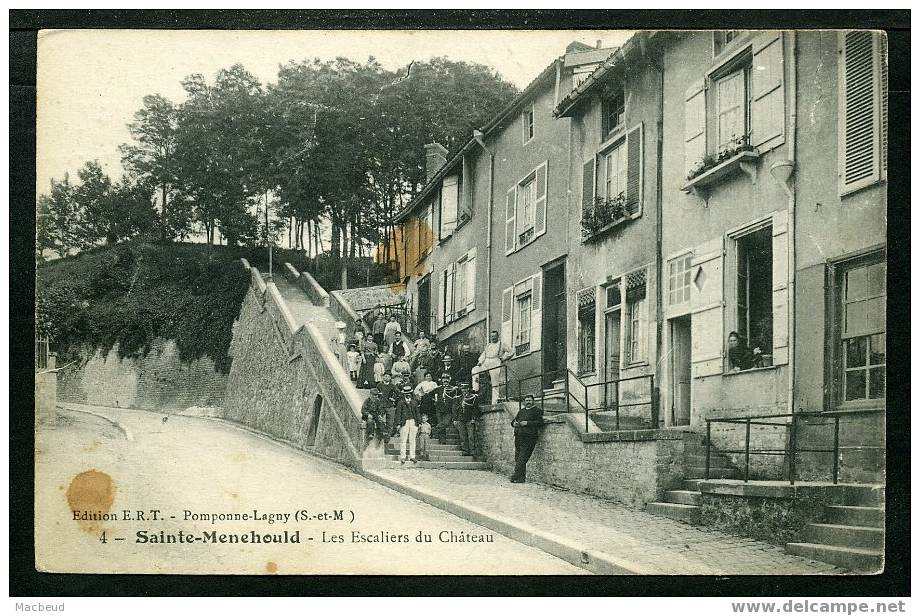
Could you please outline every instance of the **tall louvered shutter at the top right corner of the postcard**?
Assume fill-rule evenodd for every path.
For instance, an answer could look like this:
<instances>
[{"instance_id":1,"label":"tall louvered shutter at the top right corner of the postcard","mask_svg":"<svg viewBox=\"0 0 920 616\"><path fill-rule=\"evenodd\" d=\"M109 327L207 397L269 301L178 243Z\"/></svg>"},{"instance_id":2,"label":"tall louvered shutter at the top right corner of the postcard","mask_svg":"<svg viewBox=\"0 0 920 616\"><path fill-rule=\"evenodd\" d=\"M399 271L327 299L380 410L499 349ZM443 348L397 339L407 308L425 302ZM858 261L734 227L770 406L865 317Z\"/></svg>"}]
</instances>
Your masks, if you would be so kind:
<instances>
[{"instance_id":1,"label":"tall louvered shutter at the top right corner of the postcard","mask_svg":"<svg viewBox=\"0 0 920 616\"><path fill-rule=\"evenodd\" d=\"M840 194L880 178L880 80L878 38L867 31L840 33Z\"/></svg>"}]
</instances>

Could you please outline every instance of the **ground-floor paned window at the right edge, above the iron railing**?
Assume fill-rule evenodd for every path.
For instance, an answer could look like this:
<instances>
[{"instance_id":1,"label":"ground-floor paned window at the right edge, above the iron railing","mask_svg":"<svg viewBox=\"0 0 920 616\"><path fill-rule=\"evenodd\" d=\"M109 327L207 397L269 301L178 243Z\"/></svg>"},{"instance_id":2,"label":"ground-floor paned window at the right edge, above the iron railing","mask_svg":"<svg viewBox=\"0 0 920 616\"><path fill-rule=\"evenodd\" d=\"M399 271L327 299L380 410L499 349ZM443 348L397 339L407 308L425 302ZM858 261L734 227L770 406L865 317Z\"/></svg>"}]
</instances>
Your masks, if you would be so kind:
<instances>
[{"instance_id":1,"label":"ground-floor paned window at the right edge, above the iron railing","mask_svg":"<svg viewBox=\"0 0 920 616\"><path fill-rule=\"evenodd\" d=\"M877 259L847 264L837 276L844 404L885 398L886 265Z\"/></svg>"}]
</instances>

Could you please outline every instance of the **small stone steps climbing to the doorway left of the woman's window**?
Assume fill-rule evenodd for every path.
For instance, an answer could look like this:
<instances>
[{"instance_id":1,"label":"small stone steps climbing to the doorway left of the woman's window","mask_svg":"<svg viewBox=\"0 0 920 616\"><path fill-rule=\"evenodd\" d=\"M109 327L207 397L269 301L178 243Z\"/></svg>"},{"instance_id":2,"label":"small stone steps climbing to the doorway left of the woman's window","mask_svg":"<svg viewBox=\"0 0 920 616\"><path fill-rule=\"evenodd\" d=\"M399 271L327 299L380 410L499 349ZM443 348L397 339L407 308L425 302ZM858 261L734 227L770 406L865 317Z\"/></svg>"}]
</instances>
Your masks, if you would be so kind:
<instances>
[{"instance_id":1,"label":"small stone steps climbing to the doorway left of the woman's window","mask_svg":"<svg viewBox=\"0 0 920 616\"><path fill-rule=\"evenodd\" d=\"M687 478L683 482L682 489L668 490L664 493L663 501L649 503L645 511L687 524L699 524L700 502L703 496L700 492L700 482L706 477L706 445L702 437L693 433L687 433L684 440L684 465ZM710 479L736 479L740 475L740 471L732 466L728 457L715 449L710 451Z\"/></svg>"}]
</instances>

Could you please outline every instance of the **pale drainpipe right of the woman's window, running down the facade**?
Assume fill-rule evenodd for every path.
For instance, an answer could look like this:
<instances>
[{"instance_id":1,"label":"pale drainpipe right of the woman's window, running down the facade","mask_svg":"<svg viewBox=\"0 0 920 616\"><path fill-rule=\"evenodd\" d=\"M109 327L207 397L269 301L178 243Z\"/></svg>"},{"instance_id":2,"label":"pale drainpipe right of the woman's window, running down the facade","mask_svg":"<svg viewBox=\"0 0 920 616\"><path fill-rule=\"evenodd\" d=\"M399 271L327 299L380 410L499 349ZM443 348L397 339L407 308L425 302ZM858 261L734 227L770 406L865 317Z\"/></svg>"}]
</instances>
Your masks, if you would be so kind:
<instances>
[{"instance_id":1,"label":"pale drainpipe right of the woman's window, running down the facade","mask_svg":"<svg viewBox=\"0 0 920 616\"><path fill-rule=\"evenodd\" d=\"M789 249L788 249L788 260L787 268L788 273L788 283L786 285L787 293L789 294L789 299L787 300L787 305L789 307L789 382L788 389L786 392L788 401L787 401L787 412L793 414L795 412L795 180L792 179L793 170L795 168L795 139L796 139L796 126L797 126L797 104L798 104L798 79L796 77L798 72L798 49L796 47L796 36L795 32L787 33L789 37L789 47L792 55L792 70L789 72L789 134L786 137L786 148L788 152L787 160L776 161L770 166L770 173L774 178L779 180L780 185L783 187L783 190L786 192L787 198L787 233L789 235Z\"/></svg>"}]
</instances>

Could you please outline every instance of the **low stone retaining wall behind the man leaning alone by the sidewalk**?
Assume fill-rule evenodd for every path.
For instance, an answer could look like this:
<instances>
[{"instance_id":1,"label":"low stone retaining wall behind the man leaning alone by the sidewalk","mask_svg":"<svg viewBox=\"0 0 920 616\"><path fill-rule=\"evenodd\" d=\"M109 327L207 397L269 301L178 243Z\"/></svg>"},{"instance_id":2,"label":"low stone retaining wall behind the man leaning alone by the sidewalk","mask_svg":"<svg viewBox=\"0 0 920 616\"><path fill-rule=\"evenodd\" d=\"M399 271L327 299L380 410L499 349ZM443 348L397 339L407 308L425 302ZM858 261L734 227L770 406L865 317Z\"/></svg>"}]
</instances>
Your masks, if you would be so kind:
<instances>
[{"instance_id":1,"label":"low stone retaining wall behind the man leaning alone by the sidewalk","mask_svg":"<svg viewBox=\"0 0 920 616\"><path fill-rule=\"evenodd\" d=\"M512 414L488 407L477 424L483 459L500 473L514 469ZM642 508L680 487L684 477L684 440L680 432L636 430L580 434L565 415L547 416L528 481L591 494ZM582 438L584 437L584 438Z\"/></svg>"}]
</instances>

